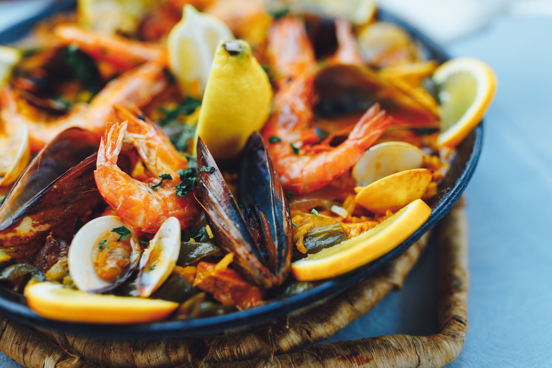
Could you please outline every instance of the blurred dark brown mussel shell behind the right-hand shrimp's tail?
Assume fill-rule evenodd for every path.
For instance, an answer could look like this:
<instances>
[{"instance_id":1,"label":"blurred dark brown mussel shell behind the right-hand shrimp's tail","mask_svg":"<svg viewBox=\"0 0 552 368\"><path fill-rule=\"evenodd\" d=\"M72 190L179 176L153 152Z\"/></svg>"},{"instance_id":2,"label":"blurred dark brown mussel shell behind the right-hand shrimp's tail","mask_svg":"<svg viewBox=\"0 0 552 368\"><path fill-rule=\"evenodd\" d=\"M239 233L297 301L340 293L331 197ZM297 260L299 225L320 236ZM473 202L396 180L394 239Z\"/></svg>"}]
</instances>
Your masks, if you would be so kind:
<instances>
[{"instance_id":1,"label":"blurred dark brown mussel shell behind the right-hand shrimp's tail","mask_svg":"<svg viewBox=\"0 0 552 368\"><path fill-rule=\"evenodd\" d=\"M319 95L315 110L325 118L365 111L378 102L395 123L405 122L408 127L439 127L439 116L369 67L327 66L317 73L314 83Z\"/></svg>"}]
</instances>

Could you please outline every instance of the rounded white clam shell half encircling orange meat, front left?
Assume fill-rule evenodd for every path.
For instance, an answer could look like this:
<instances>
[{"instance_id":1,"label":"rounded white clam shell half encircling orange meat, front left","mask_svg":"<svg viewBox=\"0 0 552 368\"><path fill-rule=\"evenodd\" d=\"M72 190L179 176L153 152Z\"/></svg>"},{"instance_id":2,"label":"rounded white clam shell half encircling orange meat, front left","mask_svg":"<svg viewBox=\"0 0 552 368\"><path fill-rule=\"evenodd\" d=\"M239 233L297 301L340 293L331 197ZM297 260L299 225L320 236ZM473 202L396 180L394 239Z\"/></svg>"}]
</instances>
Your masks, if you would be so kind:
<instances>
[{"instance_id":1,"label":"rounded white clam shell half encircling orange meat, front left","mask_svg":"<svg viewBox=\"0 0 552 368\"><path fill-rule=\"evenodd\" d=\"M112 231L114 228L121 226L131 231L130 246L132 247L132 254L129 271L118 281L105 281L100 279L95 271L92 251L94 247L99 246L98 244L101 241L100 237L102 237L106 231ZM116 237L119 237L119 234L113 233L113 237L116 239ZM132 228L129 225L124 223L119 216L102 216L87 222L75 234L71 242L71 247L69 247L67 265L69 266L71 279L78 290L91 293L104 292L113 289L113 287L121 284L121 282L130 276L132 269L138 264L140 253L140 244L136 234L132 232Z\"/></svg>"}]
</instances>

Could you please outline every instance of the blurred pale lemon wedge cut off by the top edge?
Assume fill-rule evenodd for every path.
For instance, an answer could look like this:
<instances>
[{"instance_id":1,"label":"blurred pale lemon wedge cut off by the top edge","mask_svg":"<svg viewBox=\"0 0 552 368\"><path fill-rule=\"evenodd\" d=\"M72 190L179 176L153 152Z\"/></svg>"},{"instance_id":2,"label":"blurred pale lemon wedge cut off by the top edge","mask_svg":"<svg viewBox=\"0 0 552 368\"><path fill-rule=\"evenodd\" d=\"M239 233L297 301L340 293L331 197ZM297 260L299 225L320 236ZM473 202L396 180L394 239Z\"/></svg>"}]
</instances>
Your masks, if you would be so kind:
<instances>
[{"instance_id":1,"label":"blurred pale lemon wedge cut off by the top edge","mask_svg":"<svg viewBox=\"0 0 552 368\"><path fill-rule=\"evenodd\" d=\"M343 18L354 25L367 23L376 11L375 0L299 0L294 8L300 12Z\"/></svg>"}]
</instances>

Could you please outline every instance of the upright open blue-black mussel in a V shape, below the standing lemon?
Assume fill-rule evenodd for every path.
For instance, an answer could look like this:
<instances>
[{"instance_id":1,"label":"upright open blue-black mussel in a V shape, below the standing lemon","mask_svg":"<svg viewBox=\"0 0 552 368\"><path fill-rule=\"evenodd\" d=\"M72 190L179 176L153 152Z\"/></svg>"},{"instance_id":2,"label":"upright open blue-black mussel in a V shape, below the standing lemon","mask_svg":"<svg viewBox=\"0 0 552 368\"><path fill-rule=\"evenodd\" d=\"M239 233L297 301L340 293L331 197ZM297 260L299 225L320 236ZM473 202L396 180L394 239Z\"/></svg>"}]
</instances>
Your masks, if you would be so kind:
<instances>
[{"instance_id":1,"label":"upright open blue-black mussel in a V shape, below the standing lemon","mask_svg":"<svg viewBox=\"0 0 552 368\"><path fill-rule=\"evenodd\" d=\"M291 217L282 184L262 136L247 141L240 170L240 203L228 189L208 148L198 140L196 198L219 246L256 285L273 287L286 279L291 262Z\"/></svg>"}]
</instances>

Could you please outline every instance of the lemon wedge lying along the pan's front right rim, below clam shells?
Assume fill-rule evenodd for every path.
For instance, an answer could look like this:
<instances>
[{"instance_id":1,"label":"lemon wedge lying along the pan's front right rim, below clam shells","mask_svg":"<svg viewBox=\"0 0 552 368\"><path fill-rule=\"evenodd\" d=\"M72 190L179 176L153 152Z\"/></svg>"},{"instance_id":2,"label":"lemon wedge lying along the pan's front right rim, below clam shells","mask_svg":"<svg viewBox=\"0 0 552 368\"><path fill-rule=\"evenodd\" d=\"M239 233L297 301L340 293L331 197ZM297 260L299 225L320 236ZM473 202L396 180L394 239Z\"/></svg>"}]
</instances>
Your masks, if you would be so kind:
<instances>
[{"instance_id":1,"label":"lemon wedge lying along the pan's front right rim, below clam shells","mask_svg":"<svg viewBox=\"0 0 552 368\"><path fill-rule=\"evenodd\" d=\"M292 263L291 273L298 280L314 281L351 271L404 242L430 214L431 208L417 199L359 236Z\"/></svg>"}]
</instances>

